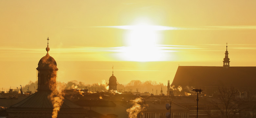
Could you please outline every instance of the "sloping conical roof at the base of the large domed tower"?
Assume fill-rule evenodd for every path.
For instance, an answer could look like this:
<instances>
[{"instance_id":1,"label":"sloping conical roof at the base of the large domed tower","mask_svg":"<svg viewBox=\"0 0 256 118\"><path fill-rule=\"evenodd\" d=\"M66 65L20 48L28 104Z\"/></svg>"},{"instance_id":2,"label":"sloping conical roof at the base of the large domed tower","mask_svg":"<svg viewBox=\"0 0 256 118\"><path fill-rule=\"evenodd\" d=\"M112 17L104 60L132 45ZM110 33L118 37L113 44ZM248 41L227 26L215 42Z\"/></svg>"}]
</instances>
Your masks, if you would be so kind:
<instances>
[{"instance_id":1,"label":"sloping conical roof at the base of the large domed tower","mask_svg":"<svg viewBox=\"0 0 256 118\"><path fill-rule=\"evenodd\" d=\"M51 100L48 99L49 94L51 91L37 91L11 108L53 108ZM66 98L63 101L61 108L82 108Z\"/></svg>"}]
</instances>

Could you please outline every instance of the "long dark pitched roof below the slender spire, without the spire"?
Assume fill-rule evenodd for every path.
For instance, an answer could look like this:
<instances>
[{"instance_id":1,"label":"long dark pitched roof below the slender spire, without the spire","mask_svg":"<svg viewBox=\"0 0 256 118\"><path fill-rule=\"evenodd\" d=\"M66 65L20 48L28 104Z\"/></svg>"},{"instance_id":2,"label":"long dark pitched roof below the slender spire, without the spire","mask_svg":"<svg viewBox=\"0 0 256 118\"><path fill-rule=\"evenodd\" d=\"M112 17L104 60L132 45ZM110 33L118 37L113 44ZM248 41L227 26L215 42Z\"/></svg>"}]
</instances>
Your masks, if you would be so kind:
<instances>
[{"instance_id":1,"label":"long dark pitched roof below the slender spire, without the spire","mask_svg":"<svg viewBox=\"0 0 256 118\"><path fill-rule=\"evenodd\" d=\"M171 85L255 88L256 67L179 66Z\"/></svg>"}]
</instances>

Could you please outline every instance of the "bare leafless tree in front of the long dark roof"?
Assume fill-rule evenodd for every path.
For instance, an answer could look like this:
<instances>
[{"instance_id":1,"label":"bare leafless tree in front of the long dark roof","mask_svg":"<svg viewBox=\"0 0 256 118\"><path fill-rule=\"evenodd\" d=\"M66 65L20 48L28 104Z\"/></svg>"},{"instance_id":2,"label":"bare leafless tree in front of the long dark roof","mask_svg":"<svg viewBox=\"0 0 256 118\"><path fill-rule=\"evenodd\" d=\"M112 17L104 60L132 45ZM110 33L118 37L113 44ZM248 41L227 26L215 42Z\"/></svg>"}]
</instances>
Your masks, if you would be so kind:
<instances>
[{"instance_id":1,"label":"bare leafless tree in front of the long dark roof","mask_svg":"<svg viewBox=\"0 0 256 118\"><path fill-rule=\"evenodd\" d=\"M240 102L236 100L237 93L238 90L234 87L219 88L219 101L212 102L212 104L219 110L219 117L234 118L237 116L236 113L238 113L238 107L240 106Z\"/></svg>"}]
</instances>

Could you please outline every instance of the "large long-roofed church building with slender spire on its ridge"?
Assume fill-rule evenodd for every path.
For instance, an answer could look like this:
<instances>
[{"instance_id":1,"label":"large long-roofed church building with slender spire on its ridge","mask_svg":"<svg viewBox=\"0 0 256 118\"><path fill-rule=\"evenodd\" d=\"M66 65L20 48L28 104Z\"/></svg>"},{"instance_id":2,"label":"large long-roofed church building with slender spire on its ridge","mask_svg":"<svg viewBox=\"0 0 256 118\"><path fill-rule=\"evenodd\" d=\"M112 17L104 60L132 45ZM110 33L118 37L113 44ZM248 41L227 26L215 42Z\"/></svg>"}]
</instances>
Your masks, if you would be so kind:
<instances>
[{"instance_id":1,"label":"large long-roofed church building with slender spire on its ridge","mask_svg":"<svg viewBox=\"0 0 256 118\"><path fill-rule=\"evenodd\" d=\"M175 91L175 95L183 95L192 88L201 88L206 95L213 95L220 87L234 87L242 91L256 93L256 67L230 67L226 46L223 67L215 66L179 66L171 86L181 86L181 92Z\"/></svg>"}]
</instances>

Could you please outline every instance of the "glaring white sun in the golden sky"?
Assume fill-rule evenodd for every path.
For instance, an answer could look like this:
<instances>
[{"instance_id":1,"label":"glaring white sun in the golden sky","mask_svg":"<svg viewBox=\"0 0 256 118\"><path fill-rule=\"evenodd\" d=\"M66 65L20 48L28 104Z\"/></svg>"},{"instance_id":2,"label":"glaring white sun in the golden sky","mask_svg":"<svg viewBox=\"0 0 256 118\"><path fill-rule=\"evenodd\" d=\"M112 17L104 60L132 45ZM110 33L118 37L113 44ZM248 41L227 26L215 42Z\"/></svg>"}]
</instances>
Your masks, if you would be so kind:
<instances>
[{"instance_id":1,"label":"glaring white sun in the golden sky","mask_svg":"<svg viewBox=\"0 0 256 118\"><path fill-rule=\"evenodd\" d=\"M125 47L121 49L121 58L127 61L160 61L161 49L157 46L161 36L157 26L133 25L121 26L127 29L124 36Z\"/></svg>"}]
</instances>

